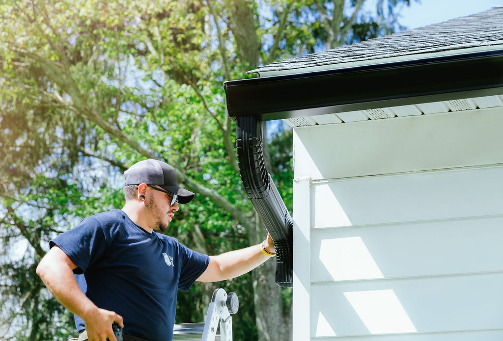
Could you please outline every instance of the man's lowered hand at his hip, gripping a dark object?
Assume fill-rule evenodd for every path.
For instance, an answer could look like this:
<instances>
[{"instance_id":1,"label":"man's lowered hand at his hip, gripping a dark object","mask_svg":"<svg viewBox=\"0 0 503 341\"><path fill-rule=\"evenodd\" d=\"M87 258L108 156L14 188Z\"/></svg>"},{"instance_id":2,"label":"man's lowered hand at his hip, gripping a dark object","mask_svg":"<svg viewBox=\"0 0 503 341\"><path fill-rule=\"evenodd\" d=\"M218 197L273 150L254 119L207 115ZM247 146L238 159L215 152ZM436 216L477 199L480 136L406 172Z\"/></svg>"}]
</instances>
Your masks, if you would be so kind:
<instances>
[{"instance_id":1,"label":"man's lowered hand at his hip, gripping a dark object","mask_svg":"<svg viewBox=\"0 0 503 341\"><path fill-rule=\"evenodd\" d=\"M82 319L86 324L89 341L106 341L107 338L110 341L117 341L112 323L117 322L121 328L124 328L122 316L105 309L96 308Z\"/></svg>"}]
</instances>

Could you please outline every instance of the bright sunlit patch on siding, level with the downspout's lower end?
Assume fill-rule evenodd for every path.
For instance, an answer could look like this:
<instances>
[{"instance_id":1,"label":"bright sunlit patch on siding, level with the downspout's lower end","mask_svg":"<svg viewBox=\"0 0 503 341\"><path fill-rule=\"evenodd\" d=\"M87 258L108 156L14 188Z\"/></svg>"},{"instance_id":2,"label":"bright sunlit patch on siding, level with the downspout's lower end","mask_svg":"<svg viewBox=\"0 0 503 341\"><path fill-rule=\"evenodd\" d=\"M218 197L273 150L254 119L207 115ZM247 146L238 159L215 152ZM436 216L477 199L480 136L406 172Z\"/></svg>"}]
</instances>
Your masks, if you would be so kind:
<instances>
[{"instance_id":1,"label":"bright sunlit patch on siding, level with the downspout's lower end","mask_svg":"<svg viewBox=\"0 0 503 341\"><path fill-rule=\"evenodd\" d=\"M360 237L322 240L319 259L334 281L384 278Z\"/></svg>"}]
</instances>

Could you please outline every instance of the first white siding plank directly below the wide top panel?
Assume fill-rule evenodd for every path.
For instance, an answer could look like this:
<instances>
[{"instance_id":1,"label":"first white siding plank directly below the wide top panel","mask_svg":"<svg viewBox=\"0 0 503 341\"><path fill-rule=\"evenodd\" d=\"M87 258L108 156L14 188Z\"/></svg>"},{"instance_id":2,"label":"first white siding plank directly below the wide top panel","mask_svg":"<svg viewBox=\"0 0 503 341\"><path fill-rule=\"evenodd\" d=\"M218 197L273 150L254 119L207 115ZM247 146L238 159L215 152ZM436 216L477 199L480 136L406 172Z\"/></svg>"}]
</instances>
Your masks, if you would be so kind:
<instances>
[{"instance_id":1,"label":"first white siding plank directly below the wide top panel","mask_svg":"<svg viewBox=\"0 0 503 341\"><path fill-rule=\"evenodd\" d=\"M314 181L312 192L314 228L492 215L503 213L503 167Z\"/></svg>"}]
</instances>

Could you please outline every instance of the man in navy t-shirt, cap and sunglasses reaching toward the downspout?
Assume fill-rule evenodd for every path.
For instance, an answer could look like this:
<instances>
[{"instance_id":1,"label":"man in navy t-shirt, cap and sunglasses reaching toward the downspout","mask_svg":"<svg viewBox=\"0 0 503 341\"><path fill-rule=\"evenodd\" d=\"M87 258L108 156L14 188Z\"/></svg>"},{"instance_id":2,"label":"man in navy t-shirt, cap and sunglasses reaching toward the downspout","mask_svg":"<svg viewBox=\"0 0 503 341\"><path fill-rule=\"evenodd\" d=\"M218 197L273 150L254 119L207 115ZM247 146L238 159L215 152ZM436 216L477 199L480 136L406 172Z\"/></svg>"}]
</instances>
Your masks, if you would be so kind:
<instances>
[{"instance_id":1,"label":"man in navy t-shirt, cap and sunglasses reaching toward the downspout","mask_svg":"<svg viewBox=\"0 0 503 341\"><path fill-rule=\"evenodd\" d=\"M170 341L179 289L237 277L274 256L269 235L262 244L207 256L155 233L165 232L179 203L195 196L179 187L170 165L140 161L124 180L122 210L87 217L50 241L37 267L54 297L75 314L79 339L116 340L116 322L130 335L125 340Z\"/></svg>"}]
</instances>

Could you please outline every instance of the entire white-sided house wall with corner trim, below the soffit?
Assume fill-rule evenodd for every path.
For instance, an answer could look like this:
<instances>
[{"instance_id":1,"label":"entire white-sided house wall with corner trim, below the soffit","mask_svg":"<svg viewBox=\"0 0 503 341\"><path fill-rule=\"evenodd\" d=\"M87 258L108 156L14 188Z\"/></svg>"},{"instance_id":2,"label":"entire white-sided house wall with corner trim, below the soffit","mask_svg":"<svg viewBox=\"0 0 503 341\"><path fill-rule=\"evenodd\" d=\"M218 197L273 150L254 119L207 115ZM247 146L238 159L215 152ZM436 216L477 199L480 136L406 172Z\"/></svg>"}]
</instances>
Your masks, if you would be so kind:
<instances>
[{"instance_id":1,"label":"entire white-sided house wall with corner trim, below the soffit","mask_svg":"<svg viewBox=\"0 0 503 341\"><path fill-rule=\"evenodd\" d=\"M477 109L295 129L295 341L503 339L502 127Z\"/></svg>"}]
</instances>

